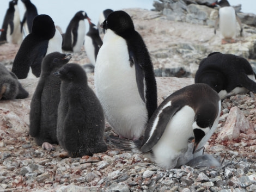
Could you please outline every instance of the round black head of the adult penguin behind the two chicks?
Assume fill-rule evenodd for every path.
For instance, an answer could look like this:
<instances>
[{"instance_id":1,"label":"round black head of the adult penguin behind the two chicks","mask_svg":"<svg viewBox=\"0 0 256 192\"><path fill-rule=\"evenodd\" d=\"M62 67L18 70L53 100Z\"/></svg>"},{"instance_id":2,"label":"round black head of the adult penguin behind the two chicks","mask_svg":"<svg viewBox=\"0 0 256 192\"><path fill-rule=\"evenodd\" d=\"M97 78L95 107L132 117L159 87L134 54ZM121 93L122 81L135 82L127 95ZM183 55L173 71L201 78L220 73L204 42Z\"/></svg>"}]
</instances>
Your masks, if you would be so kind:
<instances>
[{"instance_id":1,"label":"round black head of the adult penguin behind the two chicks","mask_svg":"<svg viewBox=\"0 0 256 192\"><path fill-rule=\"evenodd\" d=\"M51 39L55 34L55 25L52 18L48 15L38 15L32 24L32 34L43 39Z\"/></svg>"}]
</instances>

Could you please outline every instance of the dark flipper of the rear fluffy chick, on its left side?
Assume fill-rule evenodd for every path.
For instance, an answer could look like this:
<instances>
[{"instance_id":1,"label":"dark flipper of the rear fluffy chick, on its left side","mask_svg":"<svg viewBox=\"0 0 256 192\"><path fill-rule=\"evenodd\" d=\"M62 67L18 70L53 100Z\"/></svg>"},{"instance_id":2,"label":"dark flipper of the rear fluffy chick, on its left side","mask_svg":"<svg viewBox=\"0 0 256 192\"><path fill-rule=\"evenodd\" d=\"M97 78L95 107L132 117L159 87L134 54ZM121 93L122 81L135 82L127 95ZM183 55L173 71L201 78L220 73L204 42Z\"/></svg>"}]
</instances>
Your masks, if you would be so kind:
<instances>
[{"instance_id":1,"label":"dark flipper of the rear fluffy chick, on its left side","mask_svg":"<svg viewBox=\"0 0 256 192\"><path fill-rule=\"evenodd\" d=\"M41 95L44 88L44 81L39 80L31 100L31 111L29 113L29 135L38 136L41 122Z\"/></svg>"}]
</instances>

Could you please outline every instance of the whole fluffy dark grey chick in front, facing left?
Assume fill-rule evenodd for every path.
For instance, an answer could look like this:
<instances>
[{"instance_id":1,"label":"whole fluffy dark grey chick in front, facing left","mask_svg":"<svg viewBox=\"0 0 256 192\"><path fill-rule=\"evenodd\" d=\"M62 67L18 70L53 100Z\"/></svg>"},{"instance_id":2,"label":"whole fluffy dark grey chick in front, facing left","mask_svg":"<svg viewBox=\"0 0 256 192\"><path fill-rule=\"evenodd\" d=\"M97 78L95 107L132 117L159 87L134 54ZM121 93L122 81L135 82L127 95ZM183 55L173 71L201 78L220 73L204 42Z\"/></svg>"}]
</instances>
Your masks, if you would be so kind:
<instances>
[{"instance_id":1,"label":"whole fluffy dark grey chick in front, facing left","mask_svg":"<svg viewBox=\"0 0 256 192\"><path fill-rule=\"evenodd\" d=\"M106 151L103 109L87 84L86 72L78 64L66 64L54 74L62 80L57 125L60 146L71 157Z\"/></svg>"}]
</instances>

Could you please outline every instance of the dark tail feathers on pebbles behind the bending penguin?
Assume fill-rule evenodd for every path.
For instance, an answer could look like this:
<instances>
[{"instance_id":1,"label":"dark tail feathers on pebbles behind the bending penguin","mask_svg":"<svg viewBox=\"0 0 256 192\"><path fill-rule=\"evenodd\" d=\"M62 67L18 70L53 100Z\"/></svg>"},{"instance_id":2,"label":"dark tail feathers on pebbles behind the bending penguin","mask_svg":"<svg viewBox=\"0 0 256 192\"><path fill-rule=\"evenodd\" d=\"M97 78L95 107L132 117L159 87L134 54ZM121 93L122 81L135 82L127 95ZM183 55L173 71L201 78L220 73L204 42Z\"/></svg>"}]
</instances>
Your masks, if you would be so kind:
<instances>
[{"instance_id":1,"label":"dark tail feathers on pebbles behind the bending penguin","mask_svg":"<svg viewBox=\"0 0 256 192\"><path fill-rule=\"evenodd\" d=\"M133 141L133 140L128 140L124 138L114 137L112 135L109 136L108 139L109 139L109 143L117 147L119 150L141 153L139 151L139 145L141 143L139 140Z\"/></svg>"}]
</instances>

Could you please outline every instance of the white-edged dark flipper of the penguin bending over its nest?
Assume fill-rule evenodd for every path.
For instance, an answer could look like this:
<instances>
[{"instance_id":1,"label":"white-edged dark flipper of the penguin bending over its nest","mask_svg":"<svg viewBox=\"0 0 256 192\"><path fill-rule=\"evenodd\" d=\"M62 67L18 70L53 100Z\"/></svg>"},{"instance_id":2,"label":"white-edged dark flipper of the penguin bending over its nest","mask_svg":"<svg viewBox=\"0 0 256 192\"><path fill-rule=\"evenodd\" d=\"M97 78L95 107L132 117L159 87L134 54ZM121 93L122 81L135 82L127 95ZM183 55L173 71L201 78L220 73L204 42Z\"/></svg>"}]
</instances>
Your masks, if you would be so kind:
<instances>
[{"instance_id":1,"label":"white-edged dark flipper of the penguin bending over its nest","mask_svg":"<svg viewBox=\"0 0 256 192\"><path fill-rule=\"evenodd\" d=\"M141 151L143 153L145 152L149 152L154 146L155 144L160 140L160 138L162 137L162 134L164 132L164 130L166 129L166 126L168 124L168 122L170 121L170 119L172 119L173 115L178 112L181 109L181 106L172 106L171 104L167 107L163 107L160 110L157 110L158 114L156 116L154 116L154 123L152 127L147 127L146 131L149 131L149 138L147 139L147 141L143 144L143 146L141 147ZM151 121L151 119L150 119ZM150 125L150 123L149 123ZM150 130L148 130L148 128Z\"/></svg>"}]
</instances>

